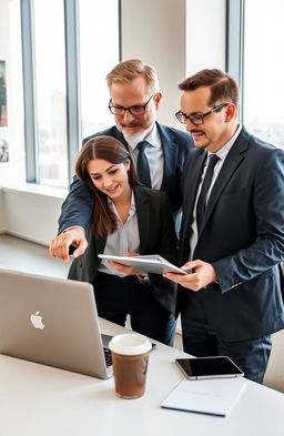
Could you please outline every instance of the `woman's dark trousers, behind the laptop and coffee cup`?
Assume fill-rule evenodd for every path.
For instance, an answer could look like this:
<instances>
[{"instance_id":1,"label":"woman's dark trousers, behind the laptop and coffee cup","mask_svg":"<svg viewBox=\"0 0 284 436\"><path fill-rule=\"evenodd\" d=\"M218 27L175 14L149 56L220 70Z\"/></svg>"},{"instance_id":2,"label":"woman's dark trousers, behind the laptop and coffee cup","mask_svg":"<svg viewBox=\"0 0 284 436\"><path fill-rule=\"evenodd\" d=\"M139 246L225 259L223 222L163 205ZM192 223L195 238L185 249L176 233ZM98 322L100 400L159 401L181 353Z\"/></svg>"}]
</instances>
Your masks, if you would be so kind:
<instances>
[{"instance_id":1,"label":"woman's dark trousers, behind the laptop and coffee cup","mask_svg":"<svg viewBox=\"0 0 284 436\"><path fill-rule=\"evenodd\" d=\"M124 326L130 315L133 331L173 345L175 317L155 300L150 284L140 283L136 276L99 272L93 287L99 316Z\"/></svg>"}]
</instances>

